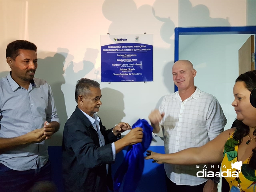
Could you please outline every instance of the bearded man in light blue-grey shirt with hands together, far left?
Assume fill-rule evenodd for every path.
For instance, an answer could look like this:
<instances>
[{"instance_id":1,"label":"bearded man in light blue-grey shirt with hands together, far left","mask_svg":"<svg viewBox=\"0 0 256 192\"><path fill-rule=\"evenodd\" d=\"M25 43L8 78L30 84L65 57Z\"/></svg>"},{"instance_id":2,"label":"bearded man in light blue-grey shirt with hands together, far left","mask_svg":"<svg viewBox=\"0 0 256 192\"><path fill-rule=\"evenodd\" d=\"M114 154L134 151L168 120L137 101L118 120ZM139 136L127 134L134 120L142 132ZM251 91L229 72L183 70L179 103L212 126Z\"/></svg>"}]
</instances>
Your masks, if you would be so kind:
<instances>
[{"instance_id":1,"label":"bearded man in light blue-grey shirt with hands together, far left","mask_svg":"<svg viewBox=\"0 0 256 192\"><path fill-rule=\"evenodd\" d=\"M24 40L8 44L12 69L0 79L0 191L25 192L50 180L45 140L59 130L50 85L35 78L36 45Z\"/></svg>"}]
</instances>

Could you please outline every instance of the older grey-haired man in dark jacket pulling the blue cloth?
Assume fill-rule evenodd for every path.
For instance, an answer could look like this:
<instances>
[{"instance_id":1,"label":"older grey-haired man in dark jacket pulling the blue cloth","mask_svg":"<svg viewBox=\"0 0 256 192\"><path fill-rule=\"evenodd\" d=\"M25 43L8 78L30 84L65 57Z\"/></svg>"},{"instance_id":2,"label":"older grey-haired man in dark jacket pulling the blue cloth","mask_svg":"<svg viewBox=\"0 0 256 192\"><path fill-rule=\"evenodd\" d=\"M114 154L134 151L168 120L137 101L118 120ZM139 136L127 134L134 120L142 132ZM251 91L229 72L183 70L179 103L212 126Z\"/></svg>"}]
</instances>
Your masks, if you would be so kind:
<instances>
[{"instance_id":1,"label":"older grey-haired man in dark jacket pulling the blue cloth","mask_svg":"<svg viewBox=\"0 0 256 192\"><path fill-rule=\"evenodd\" d=\"M119 123L106 130L99 116L100 84L82 78L76 84L77 106L63 132L63 179L66 192L107 192L113 189L109 164L124 147L142 141L140 127Z\"/></svg>"}]
</instances>

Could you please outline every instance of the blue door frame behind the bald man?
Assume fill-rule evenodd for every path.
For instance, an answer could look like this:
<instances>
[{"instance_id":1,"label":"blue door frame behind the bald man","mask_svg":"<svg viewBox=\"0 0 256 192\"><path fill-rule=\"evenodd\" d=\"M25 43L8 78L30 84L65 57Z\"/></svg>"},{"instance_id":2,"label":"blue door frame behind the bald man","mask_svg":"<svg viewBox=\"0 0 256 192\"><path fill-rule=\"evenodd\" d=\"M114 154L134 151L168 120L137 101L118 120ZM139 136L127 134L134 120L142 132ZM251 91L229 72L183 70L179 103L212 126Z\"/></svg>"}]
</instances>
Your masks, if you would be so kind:
<instances>
[{"instance_id":1,"label":"blue door frame behind the bald man","mask_svg":"<svg viewBox=\"0 0 256 192\"><path fill-rule=\"evenodd\" d=\"M232 34L254 34L256 26L235 27L176 27L174 28L174 62L179 60L179 36L180 35L232 35ZM255 41L256 42L256 41ZM255 43L256 49L256 43ZM178 87L174 86L174 92Z\"/></svg>"}]
</instances>

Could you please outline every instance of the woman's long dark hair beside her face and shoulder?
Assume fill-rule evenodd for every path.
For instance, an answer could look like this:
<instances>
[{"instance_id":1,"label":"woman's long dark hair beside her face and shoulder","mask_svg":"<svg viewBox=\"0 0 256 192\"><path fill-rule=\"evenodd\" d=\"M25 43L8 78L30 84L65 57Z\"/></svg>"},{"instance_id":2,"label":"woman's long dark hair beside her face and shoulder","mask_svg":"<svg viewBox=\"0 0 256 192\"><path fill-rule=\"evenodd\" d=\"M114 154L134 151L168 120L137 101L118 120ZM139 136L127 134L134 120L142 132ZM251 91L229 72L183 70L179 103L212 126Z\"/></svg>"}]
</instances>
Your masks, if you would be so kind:
<instances>
[{"instance_id":1,"label":"woman's long dark hair beside her face and shoulder","mask_svg":"<svg viewBox=\"0 0 256 192\"><path fill-rule=\"evenodd\" d=\"M245 87L251 92L256 87L256 70L247 71L246 73L239 75L236 79L236 82L238 81L244 82ZM237 140L238 145L240 145L242 139L249 133L249 126L236 119L232 127L236 127L233 139ZM253 135L256 135L256 130L254 130ZM256 169L256 148L252 149L252 156L249 165L251 168Z\"/></svg>"}]
</instances>

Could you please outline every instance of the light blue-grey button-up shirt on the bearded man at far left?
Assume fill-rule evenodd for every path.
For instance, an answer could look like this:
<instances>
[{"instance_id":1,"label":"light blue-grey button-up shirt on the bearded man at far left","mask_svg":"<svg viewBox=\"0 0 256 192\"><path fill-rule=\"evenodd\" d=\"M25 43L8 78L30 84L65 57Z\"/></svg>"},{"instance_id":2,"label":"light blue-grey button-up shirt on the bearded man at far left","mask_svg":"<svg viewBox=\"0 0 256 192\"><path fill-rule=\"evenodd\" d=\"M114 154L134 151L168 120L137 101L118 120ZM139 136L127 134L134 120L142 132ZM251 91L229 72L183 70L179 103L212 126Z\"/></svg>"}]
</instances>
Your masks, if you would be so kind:
<instances>
[{"instance_id":1,"label":"light blue-grey button-up shirt on the bearded man at far left","mask_svg":"<svg viewBox=\"0 0 256 192\"><path fill-rule=\"evenodd\" d=\"M44 122L57 121L50 85L34 78L28 90L20 87L10 73L0 79L0 137L13 138L44 126ZM41 168L48 161L47 143L20 145L0 154L0 163L13 170Z\"/></svg>"}]
</instances>

